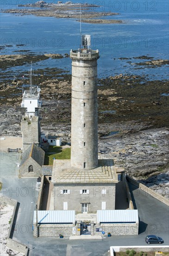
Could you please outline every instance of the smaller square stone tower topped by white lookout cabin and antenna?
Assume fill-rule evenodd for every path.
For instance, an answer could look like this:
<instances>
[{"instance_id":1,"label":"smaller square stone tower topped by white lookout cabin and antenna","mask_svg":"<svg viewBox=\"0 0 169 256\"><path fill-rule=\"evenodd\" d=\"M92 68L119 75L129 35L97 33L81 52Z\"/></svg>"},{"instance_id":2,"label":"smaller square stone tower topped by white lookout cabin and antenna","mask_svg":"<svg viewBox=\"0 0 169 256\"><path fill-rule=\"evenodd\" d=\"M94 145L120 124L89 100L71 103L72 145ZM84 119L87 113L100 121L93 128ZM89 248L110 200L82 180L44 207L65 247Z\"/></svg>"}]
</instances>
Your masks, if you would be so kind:
<instances>
[{"instance_id":1,"label":"smaller square stone tower topped by white lookout cabin and antenna","mask_svg":"<svg viewBox=\"0 0 169 256\"><path fill-rule=\"evenodd\" d=\"M22 97L21 108L25 108L25 115L21 121L23 151L32 143L40 144L39 108L41 108L40 88L32 85L32 68L30 70L30 88L25 90Z\"/></svg>"}]
</instances>

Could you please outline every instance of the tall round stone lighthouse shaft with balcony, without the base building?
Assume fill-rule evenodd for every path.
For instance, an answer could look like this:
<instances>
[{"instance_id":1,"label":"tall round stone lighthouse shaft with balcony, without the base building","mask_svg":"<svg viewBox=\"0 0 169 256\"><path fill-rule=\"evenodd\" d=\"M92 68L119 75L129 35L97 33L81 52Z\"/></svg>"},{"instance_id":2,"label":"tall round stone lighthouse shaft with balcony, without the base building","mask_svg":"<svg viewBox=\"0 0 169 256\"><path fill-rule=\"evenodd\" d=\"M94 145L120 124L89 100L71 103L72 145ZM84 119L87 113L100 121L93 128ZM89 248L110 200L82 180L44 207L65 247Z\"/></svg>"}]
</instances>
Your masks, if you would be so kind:
<instances>
[{"instance_id":1,"label":"tall round stone lighthouse shaft with balcony, without the base building","mask_svg":"<svg viewBox=\"0 0 169 256\"><path fill-rule=\"evenodd\" d=\"M98 166L97 60L90 49L90 35L82 35L82 47L70 51L72 59L71 167Z\"/></svg>"}]
</instances>

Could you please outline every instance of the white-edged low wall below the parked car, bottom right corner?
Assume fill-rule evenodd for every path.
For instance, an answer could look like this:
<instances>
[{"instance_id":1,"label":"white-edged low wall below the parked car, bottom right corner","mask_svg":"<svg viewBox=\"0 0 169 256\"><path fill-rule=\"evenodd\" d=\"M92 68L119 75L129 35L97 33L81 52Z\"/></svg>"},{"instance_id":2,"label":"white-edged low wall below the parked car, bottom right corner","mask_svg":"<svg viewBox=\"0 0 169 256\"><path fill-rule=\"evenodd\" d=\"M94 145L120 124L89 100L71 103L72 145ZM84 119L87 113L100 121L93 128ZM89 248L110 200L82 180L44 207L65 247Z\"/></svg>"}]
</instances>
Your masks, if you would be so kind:
<instances>
[{"instance_id":1,"label":"white-edged low wall below the parked car, bottom right corner","mask_svg":"<svg viewBox=\"0 0 169 256\"><path fill-rule=\"evenodd\" d=\"M134 249L136 252L144 251L162 251L162 252L168 252L169 251L169 246L168 245L149 245L149 246L110 246L110 256L114 255L114 252L125 252L127 249L131 250Z\"/></svg>"}]
</instances>

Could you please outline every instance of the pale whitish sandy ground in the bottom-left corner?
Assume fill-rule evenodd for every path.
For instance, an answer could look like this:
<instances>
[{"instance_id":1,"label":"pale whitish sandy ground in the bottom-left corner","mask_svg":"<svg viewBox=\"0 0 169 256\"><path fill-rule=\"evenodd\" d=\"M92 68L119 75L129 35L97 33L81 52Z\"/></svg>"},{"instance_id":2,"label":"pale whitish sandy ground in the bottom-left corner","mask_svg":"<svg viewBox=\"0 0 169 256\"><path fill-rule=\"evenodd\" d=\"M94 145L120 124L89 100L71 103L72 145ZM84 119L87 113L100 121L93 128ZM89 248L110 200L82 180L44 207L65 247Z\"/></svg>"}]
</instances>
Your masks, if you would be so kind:
<instances>
[{"instance_id":1,"label":"pale whitish sandy ground in the bottom-left corner","mask_svg":"<svg viewBox=\"0 0 169 256\"><path fill-rule=\"evenodd\" d=\"M13 215L13 206L2 203L0 205L0 255L23 256L24 254L13 251L6 247L6 237L9 230L9 221Z\"/></svg>"}]
</instances>

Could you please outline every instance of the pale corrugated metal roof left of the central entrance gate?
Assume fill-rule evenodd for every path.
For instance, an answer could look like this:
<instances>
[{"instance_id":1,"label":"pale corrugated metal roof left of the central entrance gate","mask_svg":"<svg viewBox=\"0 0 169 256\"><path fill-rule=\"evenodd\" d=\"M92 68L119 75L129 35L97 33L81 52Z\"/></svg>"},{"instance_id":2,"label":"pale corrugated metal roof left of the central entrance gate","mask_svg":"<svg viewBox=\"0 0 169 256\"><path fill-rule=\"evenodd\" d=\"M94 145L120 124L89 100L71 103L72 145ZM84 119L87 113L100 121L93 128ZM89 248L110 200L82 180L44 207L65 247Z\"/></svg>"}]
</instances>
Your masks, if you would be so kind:
<instances>
[{"instance_id":1,"label":"pale corrugated metal roof left of the central entrance gate","mask_svg":"<svg viewBox=\"0 0 169 256\"><path fill-rule=\"evenodd\" d=\"M36 223L36 211L33 222ZM38 211L38 223L74 223L75 210Z\"/></svg>"}]
</instances>

